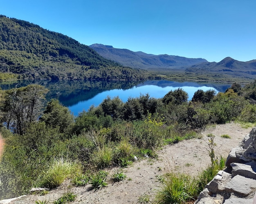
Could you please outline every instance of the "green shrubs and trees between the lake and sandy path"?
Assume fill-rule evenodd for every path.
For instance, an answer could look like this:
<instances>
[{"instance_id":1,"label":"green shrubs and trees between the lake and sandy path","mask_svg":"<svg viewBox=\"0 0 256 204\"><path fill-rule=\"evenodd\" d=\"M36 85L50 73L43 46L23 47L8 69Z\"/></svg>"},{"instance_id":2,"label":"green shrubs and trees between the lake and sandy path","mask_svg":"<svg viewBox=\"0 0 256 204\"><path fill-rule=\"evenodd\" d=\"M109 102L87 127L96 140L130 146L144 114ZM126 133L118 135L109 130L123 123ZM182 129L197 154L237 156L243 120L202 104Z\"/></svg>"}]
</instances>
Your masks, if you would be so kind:
<instances>
[{"instance_id":1,"label":"green shrubs and trees between the lake and sandy path","mask_svg":"<svg viewBox=\"0 0 256 204\"><path fill-rule=\"evenodd\" d=\"M52 189L66 178L74 185L90 183L97 189L106 186L104 170L124 168L145 154L156 158L163 145L197 137L209 125L256 122L256 81L245 87L234 83L225 93L198 90L191 101L181 88L161 99L149 94L126 102L107 97L77 117L57 99L47 102L47 92L42 85L0 92L0 132L5 143L0 199L28 193L31 187ZM211 176L223 161L213 164ZM209 179L200 177L190 199Z\"/></svg>"}]
</instances>

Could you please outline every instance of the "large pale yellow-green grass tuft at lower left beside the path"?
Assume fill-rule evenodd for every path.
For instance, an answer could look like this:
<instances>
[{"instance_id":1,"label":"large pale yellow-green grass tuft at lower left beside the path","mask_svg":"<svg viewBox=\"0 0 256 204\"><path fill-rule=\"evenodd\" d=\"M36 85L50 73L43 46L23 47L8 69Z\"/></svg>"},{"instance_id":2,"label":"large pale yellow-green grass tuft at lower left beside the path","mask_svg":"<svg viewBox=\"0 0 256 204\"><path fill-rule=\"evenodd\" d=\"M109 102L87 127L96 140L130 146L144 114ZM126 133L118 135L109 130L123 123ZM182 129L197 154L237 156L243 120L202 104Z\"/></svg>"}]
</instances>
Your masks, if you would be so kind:
<instances>
[{"instance_id":1,"label":"large pale yellow-green grass tuft at lower left beside the path","mask_svg":"<svg viewBox=\"0 0 256 204\"><path fill-rule=\"evenodd\" d=\"M76 162L71 162L66 159L55 159L48 170L43 172L39 179L40 186L47 188L56 188L61 185L62 182L68 178L73 177L80 171L80 166Z\"/></svg>"}]
</instances>

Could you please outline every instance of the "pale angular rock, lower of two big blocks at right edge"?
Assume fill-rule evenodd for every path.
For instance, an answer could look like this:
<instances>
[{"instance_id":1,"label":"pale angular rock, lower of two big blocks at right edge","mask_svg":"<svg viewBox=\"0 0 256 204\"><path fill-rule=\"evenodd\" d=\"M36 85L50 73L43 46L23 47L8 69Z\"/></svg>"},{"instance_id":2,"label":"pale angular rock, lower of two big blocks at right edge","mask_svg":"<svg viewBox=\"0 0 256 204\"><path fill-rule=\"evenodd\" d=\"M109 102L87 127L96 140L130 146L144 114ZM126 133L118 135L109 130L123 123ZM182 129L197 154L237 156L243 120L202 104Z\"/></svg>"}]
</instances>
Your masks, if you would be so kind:
<instances>
[{"instance_id":1,"label":"pale angular rock, lower of two big blocks at right edge","mask_svg":"<svg viewBox=\"0 0 256 204\"><path fill-rule=\"evenodd\" d=\"M249 179L240 175L236 175L227 183L225 186L226 192L234 192L243 197L247 196L249 193L254 192L256 188L256 180Z\"/></svg>"}]
</instances>

